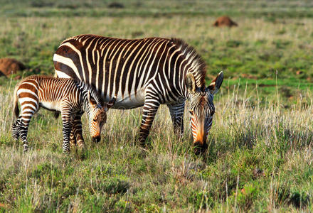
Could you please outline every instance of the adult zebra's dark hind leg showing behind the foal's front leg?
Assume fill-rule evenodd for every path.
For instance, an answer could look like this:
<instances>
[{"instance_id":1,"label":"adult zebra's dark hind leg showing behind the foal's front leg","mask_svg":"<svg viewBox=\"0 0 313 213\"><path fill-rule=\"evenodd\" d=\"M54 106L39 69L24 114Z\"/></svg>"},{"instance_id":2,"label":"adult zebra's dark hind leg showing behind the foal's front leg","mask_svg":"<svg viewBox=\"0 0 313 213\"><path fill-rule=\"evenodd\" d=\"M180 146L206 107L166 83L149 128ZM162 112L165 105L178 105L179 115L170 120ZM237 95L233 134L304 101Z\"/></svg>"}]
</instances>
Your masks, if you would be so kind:
<instances>
[{"instance_id":1,"label":"adult zebra's dark hind leg showing behind the foal's front leg","mask_svg":"<svg viewBox=\"0 0 313 213\"><path fill-rule=\"evenodd\" d=\"M83 138L83 129L82 129L82 118L83 111L78 112L75 114L73 120L72 131L70 132L70 145L71 146L78 146L78 148L85 147L85 141Z\"/></svg>"}]
</instances>

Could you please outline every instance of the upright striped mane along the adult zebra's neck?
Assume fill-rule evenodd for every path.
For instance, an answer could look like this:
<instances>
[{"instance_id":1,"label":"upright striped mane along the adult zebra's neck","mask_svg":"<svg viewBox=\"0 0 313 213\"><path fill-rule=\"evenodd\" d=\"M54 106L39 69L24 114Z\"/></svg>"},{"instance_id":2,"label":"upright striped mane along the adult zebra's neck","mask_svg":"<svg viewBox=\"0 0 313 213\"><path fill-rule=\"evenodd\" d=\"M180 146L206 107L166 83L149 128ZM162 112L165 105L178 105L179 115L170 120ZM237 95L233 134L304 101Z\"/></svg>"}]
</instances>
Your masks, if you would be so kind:
<instances>
[{"instance_id":1,"label":"upright striped mane along the adult zebra's neck","mask_svg":"<svg viewBox=\"0 0 313 213\"><path fill-rule=\"evenodd\" d=\"M204 62L201 55L198 55L196 49L193 46L188 45L184 40L180 38L171 38L171 42L181 48L181 52L186 55L186 58L191 61L191 71L196 79L196 85L202 89L205 88L206 82L206 63Z\"/></svg>"}]
</instances>

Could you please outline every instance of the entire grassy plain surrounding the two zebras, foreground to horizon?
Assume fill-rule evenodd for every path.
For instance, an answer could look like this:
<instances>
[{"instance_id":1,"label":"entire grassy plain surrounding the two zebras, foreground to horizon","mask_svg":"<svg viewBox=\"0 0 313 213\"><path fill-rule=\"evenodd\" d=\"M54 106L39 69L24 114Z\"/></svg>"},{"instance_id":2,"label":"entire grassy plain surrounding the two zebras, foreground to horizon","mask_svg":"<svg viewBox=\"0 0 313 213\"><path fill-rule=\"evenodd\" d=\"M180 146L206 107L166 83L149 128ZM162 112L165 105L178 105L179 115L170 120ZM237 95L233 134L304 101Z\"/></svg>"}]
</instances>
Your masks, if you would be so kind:
<instances>
[{"instance_id":1,"label":"entire grassy plain surrounding the two zebras, foreground to horizon","mask_svg":"<svg viewBox=\"0 0 313 213\"><path fill-rule=\"evenodd\" d=\"M86 151L70 155L60 119L42 109L22 153L10 132L17 81L0 77L1 212L313 211L311 1L86 2L5 1L0 58L26 64L16 75L50 75L71 35L184 38L206 61L207 81L226 75L208 151L193 154L188 114L178 141L161 107L148 151L137 144L141 109L110 110L97 144L85 125ZM213 28L225 13L238 28Z\"/></svg>"}]
</instances>

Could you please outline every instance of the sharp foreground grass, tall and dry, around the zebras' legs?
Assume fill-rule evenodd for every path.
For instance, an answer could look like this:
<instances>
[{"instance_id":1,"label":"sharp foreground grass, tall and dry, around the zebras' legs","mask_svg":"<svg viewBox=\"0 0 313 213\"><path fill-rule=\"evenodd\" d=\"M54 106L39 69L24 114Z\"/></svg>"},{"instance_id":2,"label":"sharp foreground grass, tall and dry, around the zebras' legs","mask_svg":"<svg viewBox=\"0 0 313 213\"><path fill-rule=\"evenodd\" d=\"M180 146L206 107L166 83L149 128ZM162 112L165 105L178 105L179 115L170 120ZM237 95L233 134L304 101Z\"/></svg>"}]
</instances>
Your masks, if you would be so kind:
<instances>
[{"instance_id":1,"label":"sharp foreground grass, tall and dry, around the zebras' legs","mask_svg":"<svg viewBox=\"0 0 313 213\"><path fill-rule=\"evenodd\" d=\"M148 151L136 140L140 109L110 110L97 144L84 125L87 148L70 155L62 153L60 119L42 109L31 121L31 151L22 153L9 131L11 92L0 94L2 210L312 211L313 106L303 104L309 92L285 109L270 101L253 107L250 99L257 97L222 89L202 156L193 154L188 114L178 141L166 107L157 114Z\"/></svg>"}]
</instances>

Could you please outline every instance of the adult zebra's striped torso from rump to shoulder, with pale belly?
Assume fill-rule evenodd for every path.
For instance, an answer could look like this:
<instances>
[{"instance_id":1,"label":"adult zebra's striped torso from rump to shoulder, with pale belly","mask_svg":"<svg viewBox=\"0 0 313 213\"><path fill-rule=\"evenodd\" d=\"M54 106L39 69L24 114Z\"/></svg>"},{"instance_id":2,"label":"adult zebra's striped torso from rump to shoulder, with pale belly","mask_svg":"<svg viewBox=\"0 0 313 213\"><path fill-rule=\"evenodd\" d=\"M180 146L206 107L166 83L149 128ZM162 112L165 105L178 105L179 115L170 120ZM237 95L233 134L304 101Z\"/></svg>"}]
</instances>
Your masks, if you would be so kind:
<instances>
[{"instance_id":1,"label":"adult zebra's striped torso from rump to shoulder, with pale belly","mask_svg":"<svg viewBox=\"0 0 313 213\"><path fill-rule=\"evenodd\" d=\"M147 85L166 78L167 87L178 81L167 67L177 48L167 38L120 39L98 35L78 35L61 43L53 57L59 77L70 77L93 85L115 108L140 107ZM164 72L166 70L166 72ZM164 93L171 88L159 88ZM166 94L162 94L164 97ZM166 102L164 98L164 103Z\"/></svg>"}]
</instances>

